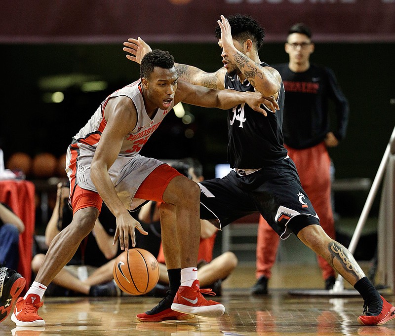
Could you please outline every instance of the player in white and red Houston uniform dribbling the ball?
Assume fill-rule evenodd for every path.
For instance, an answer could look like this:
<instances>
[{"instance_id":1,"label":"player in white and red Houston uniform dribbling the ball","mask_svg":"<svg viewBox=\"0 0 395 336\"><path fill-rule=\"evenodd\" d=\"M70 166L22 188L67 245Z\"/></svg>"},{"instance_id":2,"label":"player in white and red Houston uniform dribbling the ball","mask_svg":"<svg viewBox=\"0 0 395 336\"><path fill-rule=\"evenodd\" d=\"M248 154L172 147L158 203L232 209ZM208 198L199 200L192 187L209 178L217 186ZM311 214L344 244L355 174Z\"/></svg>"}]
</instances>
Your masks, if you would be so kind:
<instances>
[{"instance_id":1,"label":"player in white and red Houston uniform dribbling the ball","mask_svg":"<svg viewBox=\"0 0 395 336\"><path fill-rule=\"evenodd\" d=\"M260 105L265 99L260 93L235 94L178 80L173 57L161 50L145 55L140 76L138 81L107 97L73 138L66 168L73 220L52 240L32 287L24 298L18 299L11 317L17 326L45 324L38 315L45 289L93 229L103 200L117 218L114 241L119 239L121 249L129 248L129 236L135 246L135 228L148 234L128 212L146 200L162 202L162 226L175 226L175 235L162 234L165 255L168 249L177 251L175 258L166 259L167 266L178 272L176 276L181 273L181 287L170 290L177 293L180 288L183 297L190 299L178 307L187 314L171 310L172 302L163 302L162 306L168 307L161 310L162 319L182 320L193 317L192 314L216 317L224 313L222 304L203 298L196 280L198 185L163 162L139 155L139 151L166 113L180 101L221 109L247 103L263 112ZM168 217L174 212L175 222Z\"/></svg>"}]
</instances>

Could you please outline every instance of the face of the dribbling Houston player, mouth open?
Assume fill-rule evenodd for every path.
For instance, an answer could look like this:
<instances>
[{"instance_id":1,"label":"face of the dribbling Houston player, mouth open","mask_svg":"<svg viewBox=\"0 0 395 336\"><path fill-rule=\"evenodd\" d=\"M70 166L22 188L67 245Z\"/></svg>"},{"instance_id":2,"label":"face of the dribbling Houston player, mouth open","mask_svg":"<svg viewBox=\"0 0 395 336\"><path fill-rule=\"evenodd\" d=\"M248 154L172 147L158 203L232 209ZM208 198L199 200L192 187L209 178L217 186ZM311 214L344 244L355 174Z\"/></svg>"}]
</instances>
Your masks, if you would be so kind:
<instances>
[{"instance_id":1,"label":"face of the dribbling Houston player, mouth open","mask_svg":"<svg viewBox=\"0 0 395 336\"><path fill-rule=\"evenodd\" d=\"M149 78L143 78L147 99L161 110L167 110L174 100L178 75L176 68L155 67Z\"/></svg>"}]
</instances>

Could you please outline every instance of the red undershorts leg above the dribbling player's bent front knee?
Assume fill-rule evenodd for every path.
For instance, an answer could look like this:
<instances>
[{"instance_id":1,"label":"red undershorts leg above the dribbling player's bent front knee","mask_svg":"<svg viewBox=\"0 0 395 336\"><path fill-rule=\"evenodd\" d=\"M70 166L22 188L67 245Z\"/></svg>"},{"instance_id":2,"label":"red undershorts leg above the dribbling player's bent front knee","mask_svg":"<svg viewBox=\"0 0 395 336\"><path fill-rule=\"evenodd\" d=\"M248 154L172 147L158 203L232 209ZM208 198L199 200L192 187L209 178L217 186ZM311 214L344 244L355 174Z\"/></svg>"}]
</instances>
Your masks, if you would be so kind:
<instances>
[{"instance_id":1,"label":"red undershorts leg above the dribbling player's bent front knee","mask_svg":"<svg viewBox=\"0 0 395 336\"><path fill-rule=\"evenodd\" d=\"M179 175L184 176L173 167L170 167L165 163L161 164L145 178L140 187L137 189L134 197L156 202L164 202L164 190L166 190L170 181Z\"/></svg>"}]
</instances>

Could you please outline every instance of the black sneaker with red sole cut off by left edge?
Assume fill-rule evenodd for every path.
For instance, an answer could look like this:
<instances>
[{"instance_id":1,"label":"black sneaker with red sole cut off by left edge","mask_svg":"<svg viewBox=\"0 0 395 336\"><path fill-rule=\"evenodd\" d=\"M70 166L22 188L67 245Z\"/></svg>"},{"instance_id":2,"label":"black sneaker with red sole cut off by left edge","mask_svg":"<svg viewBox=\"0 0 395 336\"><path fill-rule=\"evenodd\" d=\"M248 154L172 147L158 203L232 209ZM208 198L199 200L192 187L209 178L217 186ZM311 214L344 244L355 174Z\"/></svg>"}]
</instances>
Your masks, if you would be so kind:
<instances>
[{"instance_id":1,"label":"black sneaker with red sole cut off by left edge","mask_svg":"<svg viewBox=\"0 0 395 336\"><path fill-rule=\"evenodd\" d=\"M12 305L21 295L25 284L22 275L0 263L0 322L11 312Z\"/></svg>"}]
</instances>

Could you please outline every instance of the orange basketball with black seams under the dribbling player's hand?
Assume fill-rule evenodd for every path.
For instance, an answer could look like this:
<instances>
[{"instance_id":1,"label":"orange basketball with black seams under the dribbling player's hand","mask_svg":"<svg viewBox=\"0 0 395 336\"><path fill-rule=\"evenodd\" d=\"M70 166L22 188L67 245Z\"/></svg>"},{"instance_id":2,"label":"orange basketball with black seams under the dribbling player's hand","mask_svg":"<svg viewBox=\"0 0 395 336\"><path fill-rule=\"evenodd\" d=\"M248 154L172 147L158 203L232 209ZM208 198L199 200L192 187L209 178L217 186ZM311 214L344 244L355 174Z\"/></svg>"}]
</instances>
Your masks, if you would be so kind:
<instances>
[{"instance_id":1,"label":"orange basketball with black seams under the dribbling player's hand","mask_svg":"<svg viewBox=\"0 0 395 336\"><path fill-rule=\"evenodd\" d=\"M158 261L147 250L130 249L117 257L113 274L115 282L123 292L143 295L158 283Z\"/></svg>"}]
</instances>

